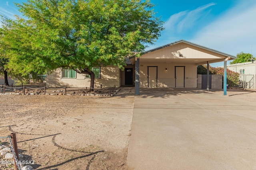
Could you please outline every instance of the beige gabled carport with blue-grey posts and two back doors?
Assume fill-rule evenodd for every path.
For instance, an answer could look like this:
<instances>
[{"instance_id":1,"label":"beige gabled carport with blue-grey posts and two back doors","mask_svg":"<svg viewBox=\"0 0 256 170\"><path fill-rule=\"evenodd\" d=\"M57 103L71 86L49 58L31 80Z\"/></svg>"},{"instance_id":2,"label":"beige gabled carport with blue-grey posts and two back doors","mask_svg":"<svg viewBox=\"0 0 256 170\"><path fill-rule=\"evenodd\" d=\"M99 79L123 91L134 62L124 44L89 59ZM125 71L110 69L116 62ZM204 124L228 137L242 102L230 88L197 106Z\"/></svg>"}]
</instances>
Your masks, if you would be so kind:
<instances>
[{"instance_id":1,"label":"beige gabled carport with blue-grey posts and two back doors","mask_svg":"<svg viewBox=\"0 0 256 170\"><path fill-rule=\"evenodd\" d=\"M235 56L216 51L189 41L180 40L132 57L135 64L135 94L140 88L197 88L197 66L224 61L224 95L226 95L226 61Z\"/></svg>"}]
</instances>

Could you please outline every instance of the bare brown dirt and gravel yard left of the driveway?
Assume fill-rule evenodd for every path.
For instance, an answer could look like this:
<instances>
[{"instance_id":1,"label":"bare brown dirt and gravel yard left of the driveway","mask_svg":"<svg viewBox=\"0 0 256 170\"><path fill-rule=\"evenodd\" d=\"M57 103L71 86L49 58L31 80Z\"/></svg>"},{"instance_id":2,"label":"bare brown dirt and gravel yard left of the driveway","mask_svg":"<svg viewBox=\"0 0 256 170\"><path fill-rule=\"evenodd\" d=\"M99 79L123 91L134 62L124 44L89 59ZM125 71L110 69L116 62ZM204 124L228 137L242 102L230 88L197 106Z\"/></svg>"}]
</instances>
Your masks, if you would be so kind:
<instances>
[{"instance_id":1,"label":"bare brown dirt and gravel yard left of the driveway","mask_svg":"<svg viewBox=\"0 0 256 170\"><path fill-rule=\"evenodd\" d=\"M134 95L1 95L0 136L16 132L36 170L124 170L133 106Z\"/></svg>"}]
</instances>

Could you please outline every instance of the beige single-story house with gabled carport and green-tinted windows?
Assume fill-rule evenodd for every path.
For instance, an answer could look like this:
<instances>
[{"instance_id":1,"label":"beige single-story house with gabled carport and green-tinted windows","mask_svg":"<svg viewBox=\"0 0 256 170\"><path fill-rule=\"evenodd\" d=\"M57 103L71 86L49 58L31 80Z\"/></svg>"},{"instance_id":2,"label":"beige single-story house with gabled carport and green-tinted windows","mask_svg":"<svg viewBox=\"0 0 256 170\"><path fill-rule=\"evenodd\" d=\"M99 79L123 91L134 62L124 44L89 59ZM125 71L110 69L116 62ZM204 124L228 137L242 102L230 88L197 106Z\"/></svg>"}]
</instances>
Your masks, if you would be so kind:
<instances>
[{"instance_id":1,"label":"beige single-story house with gabled carport and green-tinted windows","mask_svg":"<svg viewBox=\"0 0 256 170\"><path fill-rule=\"evenodd\" d=\"M135 86L140 88L197 88L197 66L236 59L185 40L149 51L141 57L130 57L124 70L115 66L95 67L95 87ZM89 87L90 78L74 70L58 69L47 76L46 86Z\"/></svg>"}]
</instances>

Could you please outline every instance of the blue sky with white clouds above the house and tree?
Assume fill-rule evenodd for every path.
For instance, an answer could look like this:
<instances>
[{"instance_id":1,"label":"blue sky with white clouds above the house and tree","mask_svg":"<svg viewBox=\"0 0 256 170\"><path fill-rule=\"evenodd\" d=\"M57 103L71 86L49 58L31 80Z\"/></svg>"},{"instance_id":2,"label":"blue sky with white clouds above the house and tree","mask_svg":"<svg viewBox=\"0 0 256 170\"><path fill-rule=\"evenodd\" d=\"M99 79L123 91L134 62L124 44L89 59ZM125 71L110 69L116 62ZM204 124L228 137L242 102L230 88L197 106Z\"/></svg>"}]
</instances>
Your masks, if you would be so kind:
<instances>
[{"instance_id":1,"label":"blue sky with white clouds above the house and tree","mask_svg":"<svg viewBox=\"0 0 256 170\"><path fill-rule=\"evenodd\" d=\"M0 0L0 15L21 15L13 2ZM164 21L161 37L150 50L181 39L236 56L256 56L256 0L151 0ZM223 62L210 66L223 66Z\"/></svg>"}]
</instances>

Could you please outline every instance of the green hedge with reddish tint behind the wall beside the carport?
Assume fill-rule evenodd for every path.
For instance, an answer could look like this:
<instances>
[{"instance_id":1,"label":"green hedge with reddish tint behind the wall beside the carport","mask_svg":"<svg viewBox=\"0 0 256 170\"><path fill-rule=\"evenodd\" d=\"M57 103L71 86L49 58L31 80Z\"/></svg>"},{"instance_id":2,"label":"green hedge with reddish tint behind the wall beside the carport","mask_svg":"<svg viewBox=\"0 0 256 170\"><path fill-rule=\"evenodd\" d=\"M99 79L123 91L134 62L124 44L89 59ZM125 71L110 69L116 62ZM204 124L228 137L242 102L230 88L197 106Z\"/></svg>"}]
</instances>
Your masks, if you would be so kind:
<instances>
[{"instance_id":1,"label":"green hedge with reddish tint behind the wall beside the carport","mask_svg":"<svg viewBox=\"0 0 256 170\"><path fill-rule=\"evenodd\" d=\"M197 66L197 68L198 68L197 74L207 74L206 64ZM224 75L224 68L209 66L209 74ZM227 84L229 86L237 86L239 84L239 73L231 71L227 68Z\"/></svg>"}]
</instances>

